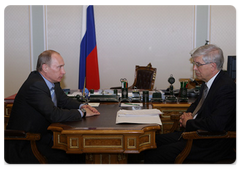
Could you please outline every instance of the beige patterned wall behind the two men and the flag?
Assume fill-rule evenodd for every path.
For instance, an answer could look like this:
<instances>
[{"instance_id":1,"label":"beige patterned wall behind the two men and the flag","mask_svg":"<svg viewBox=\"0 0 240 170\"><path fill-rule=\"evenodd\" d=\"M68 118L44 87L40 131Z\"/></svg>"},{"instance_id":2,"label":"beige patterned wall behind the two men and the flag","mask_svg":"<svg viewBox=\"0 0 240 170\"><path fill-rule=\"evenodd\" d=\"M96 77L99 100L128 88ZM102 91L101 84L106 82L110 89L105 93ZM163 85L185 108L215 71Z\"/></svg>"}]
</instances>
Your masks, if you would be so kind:
<instances>
[{"instance_id":1,"label":"beige patterned wall behind the two men and the flag","mask_svg":"<svg viewBox=\"0 0 240 170\"><path fill-rule=\"evenodd\" d=\"M29 72L32 41L29 4L2 5L2 97L18 91ZM189 52L195 47L195 4L94 4L100 86L133 83L135 65L157 68L155 87L166 89L170 74L192 77ZM237 5L211 4L209 40L225 54L237 54ZM82 4L44 4L45 48L61 53L62 86L77 89ZM203 42L204 44L204 42ZM224 65L226 69L226 63Z\"/></svg>"}]
</instances>

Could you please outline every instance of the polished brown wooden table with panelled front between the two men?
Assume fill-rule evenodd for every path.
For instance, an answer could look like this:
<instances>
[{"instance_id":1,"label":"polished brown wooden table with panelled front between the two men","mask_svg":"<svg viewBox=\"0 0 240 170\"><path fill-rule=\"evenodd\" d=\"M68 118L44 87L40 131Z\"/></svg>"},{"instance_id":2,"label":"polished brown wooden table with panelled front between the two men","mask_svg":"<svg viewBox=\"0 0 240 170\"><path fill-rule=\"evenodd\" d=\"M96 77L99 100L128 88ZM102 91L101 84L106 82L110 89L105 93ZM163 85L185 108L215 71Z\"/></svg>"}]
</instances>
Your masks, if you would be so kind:
<instances>
[{"instance_id":1,"label":"polished brown wooden table with panelled front between the two men","mask_svg":"<svg viewBox=\"0 0 240 170\"><path fill-rule=\"evenodd\" d=\"M53 148L86 154L86 164L127 164L127 154L156 148L158 124L116 124L118 104L98 108L99 116L82 121L53 123ZM127 108L124 108L127 109Z\"/></svg>"}]
</instances>

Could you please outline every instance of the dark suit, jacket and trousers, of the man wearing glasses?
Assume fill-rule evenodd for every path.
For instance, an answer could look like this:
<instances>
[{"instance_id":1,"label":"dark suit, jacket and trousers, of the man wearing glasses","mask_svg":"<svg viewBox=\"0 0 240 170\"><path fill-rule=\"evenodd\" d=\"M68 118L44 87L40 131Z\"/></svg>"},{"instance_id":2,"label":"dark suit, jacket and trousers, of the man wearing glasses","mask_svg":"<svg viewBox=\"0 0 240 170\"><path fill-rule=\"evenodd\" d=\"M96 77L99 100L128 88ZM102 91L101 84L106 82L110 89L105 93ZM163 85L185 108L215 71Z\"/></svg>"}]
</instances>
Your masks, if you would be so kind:
<instances>
[{"instance_id":1,"label":"dark suit, jacket and trousers, of the man wearing glasses","mask_svg":"<svg viewBox=\"0 0 240 170\"><path fill-rule=\"evenodd\" d=\"M191 104L187 112L193 112L198 105L202 97L203 87L200 89L200 96ZM235 131L237 124L236 109L236 84L225 72L220 71L214 79L197 117L187 121L185 131ZM187 144L187 140L181 138L182 133L176 131L168 134L157 134L157 149L146 151L146 164L173 164ZM216 162L236 158L237 154L233 151L233 144L236 144L236 141L236 139L194 140L186 159L197 162Z\"/></svg>"}]
</instances>

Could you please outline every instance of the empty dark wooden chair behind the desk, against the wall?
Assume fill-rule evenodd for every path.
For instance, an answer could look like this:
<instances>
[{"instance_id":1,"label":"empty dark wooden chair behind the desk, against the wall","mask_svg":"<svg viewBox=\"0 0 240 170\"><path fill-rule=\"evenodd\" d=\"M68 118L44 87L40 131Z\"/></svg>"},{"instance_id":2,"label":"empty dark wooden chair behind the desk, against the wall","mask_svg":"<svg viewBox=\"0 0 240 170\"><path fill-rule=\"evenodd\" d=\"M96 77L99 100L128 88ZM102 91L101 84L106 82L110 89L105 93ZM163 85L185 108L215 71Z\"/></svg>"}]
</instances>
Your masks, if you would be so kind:
<instances>
[{"instance_id":1,"label":"empty dark wooden chair behind the desk, against the wall","mask_svg":"<svg viewBox=\"0 0 240 170\"><path fill-rule=\"evenodd\" d=\"M136 65L134 82L128 87L128 89L144 89L152 91L155 84L156 73L157 69L153 68L151 63L147 66ZM121 89L121 86L111 87L110 89Z\"/></svg>"}]
</instances>

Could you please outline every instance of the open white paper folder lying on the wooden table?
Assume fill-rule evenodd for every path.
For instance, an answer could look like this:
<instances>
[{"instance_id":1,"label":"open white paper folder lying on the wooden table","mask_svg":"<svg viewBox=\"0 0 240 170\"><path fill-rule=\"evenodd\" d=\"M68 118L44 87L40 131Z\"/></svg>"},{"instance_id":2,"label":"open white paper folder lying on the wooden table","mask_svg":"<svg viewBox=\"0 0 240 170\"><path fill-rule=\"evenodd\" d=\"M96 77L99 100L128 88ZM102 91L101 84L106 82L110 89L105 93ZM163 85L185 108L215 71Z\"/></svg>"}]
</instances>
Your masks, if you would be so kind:
<instances>
[{"instance_id":1,"label":"open white paper folder lying on the wooden table","mask_svg":"<svg viewBox=\"0 0 240 170\"><path fill-rule=\"evenodd\" d=\"M119 110L116 115L116 124L137 123L137 124L159 124L162 125L158 109L142 110Z\"/></svg>"}]
</instances>

